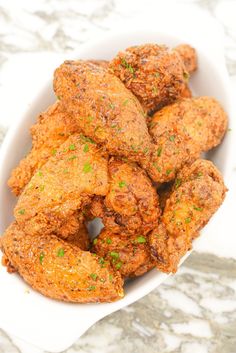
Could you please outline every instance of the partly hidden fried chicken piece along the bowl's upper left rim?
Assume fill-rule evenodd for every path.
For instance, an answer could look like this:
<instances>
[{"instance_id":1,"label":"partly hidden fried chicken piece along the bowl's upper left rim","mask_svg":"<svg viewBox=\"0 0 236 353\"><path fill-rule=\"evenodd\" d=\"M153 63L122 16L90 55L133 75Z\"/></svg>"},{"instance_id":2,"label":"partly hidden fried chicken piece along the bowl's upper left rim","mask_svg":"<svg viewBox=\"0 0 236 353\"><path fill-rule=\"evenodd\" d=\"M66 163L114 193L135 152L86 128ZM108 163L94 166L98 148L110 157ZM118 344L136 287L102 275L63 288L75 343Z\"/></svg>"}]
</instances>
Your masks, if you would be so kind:
<instances>
[{"instance_id":1,"label":"partly hidden fried chicken piece along the bowl's upper left rim","mask_svg":"<svg viewBox=\"0 0 236 353\"><path fill-rule=\"evenodd\" d=\"M31 127L32 149L12 171L8 181L13 193L18 196L37 169L40 169L67 138L78 132L76 121L57 101L38 117Z\"/></svg>"}]
</instances>

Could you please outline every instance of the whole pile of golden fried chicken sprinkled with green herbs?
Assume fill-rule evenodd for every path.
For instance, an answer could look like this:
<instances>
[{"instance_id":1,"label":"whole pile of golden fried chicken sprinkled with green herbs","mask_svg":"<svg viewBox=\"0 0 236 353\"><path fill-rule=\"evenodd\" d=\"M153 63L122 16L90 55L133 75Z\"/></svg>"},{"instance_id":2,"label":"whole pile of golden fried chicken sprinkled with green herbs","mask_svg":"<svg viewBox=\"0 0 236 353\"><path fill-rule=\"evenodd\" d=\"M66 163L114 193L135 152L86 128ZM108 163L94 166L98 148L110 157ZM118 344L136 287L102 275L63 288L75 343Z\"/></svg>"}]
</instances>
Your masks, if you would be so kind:
<instances>
[{"instance_id":1,"label":"whole pile of golden fried chicken sprinkled with green herbs","mask_svg":"<svg viewBox=\"0 0 236 353\"><path fill-rule=\"evenodd\" d=\"M12 171L15 221L2 262L40 293L68 302L111 302L124 280L174 273L224 200L212 162L227 116L192 97L189 45L133 46L110 62L65 61L56 102L31 128L32 149ZM87 225L104 228L93 240Z\"/></svg>"}]
</instances>

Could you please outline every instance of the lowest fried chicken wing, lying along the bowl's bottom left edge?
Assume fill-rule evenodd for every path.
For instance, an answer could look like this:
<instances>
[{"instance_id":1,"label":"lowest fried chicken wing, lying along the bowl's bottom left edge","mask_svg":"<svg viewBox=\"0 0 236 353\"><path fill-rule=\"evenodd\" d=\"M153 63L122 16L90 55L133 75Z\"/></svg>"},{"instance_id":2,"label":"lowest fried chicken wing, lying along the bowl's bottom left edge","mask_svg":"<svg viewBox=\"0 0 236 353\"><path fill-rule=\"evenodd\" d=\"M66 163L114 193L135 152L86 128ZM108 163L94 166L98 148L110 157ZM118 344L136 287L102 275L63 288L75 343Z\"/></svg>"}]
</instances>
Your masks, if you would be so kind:
<instances>
[{"instance_id":1,"label":"lowest fried chicken wing, lying along the bowl's bottom left edge","mask_svg":"<svg viewBox=\"0 0 236 353\"><path fill-rule=\"evenodd\" d=\"M123 297L121 276L108 262L54 235L32 237L13 223L1 239L1 248L10 271L17 270L35 290L50 298L92 303Z\"/></svg>"}]
</instances>

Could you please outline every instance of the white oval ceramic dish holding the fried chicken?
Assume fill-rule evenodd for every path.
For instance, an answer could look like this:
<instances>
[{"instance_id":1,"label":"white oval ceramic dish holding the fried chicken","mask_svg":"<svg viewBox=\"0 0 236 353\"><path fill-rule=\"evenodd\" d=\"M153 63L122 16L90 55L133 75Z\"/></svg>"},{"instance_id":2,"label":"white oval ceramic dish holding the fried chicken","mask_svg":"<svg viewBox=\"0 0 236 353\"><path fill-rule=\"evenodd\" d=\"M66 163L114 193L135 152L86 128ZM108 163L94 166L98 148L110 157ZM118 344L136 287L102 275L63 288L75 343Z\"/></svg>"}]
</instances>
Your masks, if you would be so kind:
<instances>
[{"instance_id":1,"label":"white oval ceramic dish holding the fried chicken","mask_svg":"<svg viewBox=\"0 0 236 353\"><path fill-rule=\"evenodd\" d=\"M111 59L121 49L147 42L175 46L185 40L153 31L118 33L82 47L77 57ZM217 98L230 117L229 81L222 57L217 58L215 54L211 56L210 51L203 53L196 43L190 44L196 47L199 55L199 69L191 79L194 93ZM12 127L4 141L0 158L0 232L3 232L12 221L12 211L16 203L7 187L10 172L30 147L29 127L35 122L37 114L54 101L51 79L39 92L30 109ZM221 146L209 154L224 176L227 175L230 164L230 138L230 134L227 134ZM206 227L202 233L206 233L209 229L214 231L216 219L217 214L210 221L210 227ZM45 350L59 352L69 347L96 321L145 296L166 278L166 274L152 270L127 283L126 295L120 301L110 304L80 305L48 299L29 288L18 275L9 275L6 269L1 267L0 327Z\"/></svg>"}]
</instances>

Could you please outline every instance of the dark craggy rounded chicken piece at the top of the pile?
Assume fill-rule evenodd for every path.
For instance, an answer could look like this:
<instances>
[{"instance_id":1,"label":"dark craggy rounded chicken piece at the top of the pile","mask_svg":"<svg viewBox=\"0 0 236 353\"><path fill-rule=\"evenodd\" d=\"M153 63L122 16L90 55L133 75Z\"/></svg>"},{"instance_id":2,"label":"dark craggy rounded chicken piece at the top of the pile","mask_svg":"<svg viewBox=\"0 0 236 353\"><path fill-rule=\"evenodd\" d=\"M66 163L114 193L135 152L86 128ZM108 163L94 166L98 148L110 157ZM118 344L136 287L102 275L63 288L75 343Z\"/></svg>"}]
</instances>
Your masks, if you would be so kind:
<instances>
[{"instance_id":1,"label":"dark craggy rounded chicken piece at the top of the pile","mask_svg":"<svg viewBox=\"0 0 236 353\"><path fill-rule=\"evenodd\" d=\"M180 98L188 80L178 52L164 45L127 48L117 54L109 67L148 112Z\"/></svg>"}]
</instances>

